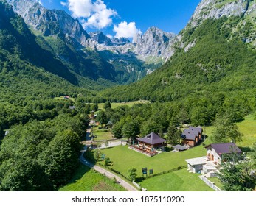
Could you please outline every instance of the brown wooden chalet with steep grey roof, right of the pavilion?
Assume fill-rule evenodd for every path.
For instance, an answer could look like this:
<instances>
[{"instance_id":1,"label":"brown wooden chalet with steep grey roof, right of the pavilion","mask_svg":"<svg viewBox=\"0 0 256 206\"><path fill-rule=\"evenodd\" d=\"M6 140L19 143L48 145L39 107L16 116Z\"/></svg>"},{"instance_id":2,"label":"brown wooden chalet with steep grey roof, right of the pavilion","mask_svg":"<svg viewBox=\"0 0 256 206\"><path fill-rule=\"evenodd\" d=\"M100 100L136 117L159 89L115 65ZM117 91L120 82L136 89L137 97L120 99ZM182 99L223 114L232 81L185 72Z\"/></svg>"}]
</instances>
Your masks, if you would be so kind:
<instances>
[{"instance_id":1,"label":"brown wooden chalet with steep grey roof, right of the pavilion","mask_svg":"<svg viewBox=\"0 0 256 206\"><path fill-rule=\"evenodd\" d=\"M201 127L189 127L181 135L184 145L193 147L201 141L203 129Z\"/></svg>"}]
</instances>

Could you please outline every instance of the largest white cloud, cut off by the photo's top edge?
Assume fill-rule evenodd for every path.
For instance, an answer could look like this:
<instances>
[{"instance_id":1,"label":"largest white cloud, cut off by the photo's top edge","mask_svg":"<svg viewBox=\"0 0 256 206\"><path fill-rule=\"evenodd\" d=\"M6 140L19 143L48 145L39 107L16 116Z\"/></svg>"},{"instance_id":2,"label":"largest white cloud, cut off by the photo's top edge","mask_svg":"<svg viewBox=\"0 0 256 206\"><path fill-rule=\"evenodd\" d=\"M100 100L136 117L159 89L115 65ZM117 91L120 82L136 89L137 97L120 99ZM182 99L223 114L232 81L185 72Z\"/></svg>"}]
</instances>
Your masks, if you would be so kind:
<instances>
[{"instance_id":1,"label":"largest white cloud, cut off by the photo's top edge","mask_svg":"<svg viewBox=\"0 0 256 206\"><path fill-rule=\"evenodd\" d=\"M103 29L112 24L115 10L108 9L102 0L68 0L66 4L74 18L80 18L83 27Z\"/></svg>"}]
</instances>

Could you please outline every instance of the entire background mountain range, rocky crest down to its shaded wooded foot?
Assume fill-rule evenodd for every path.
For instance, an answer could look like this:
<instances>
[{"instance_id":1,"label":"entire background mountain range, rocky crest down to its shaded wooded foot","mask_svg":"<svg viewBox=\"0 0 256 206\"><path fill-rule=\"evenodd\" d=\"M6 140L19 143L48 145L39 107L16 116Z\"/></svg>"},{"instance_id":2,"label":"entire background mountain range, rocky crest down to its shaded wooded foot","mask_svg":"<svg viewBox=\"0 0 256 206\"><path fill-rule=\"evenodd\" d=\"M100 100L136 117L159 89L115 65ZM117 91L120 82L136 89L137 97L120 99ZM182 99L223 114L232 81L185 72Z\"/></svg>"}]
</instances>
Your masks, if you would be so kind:
<instances>
[{"instance_id":1,"label":"entire background mountain range, rocky crest down to its shaded wooded foot","mask_svg":"<svg viewBox=\"0 0 256 206\"><path fill-rule=\"evenodd\" d=\"M65 11L46 9L36 0L7 2L24 18L41 46L82 77L120 85L136 82L173 54L163 51L172 51L176 35L154 27L145 35L138 34L136 43L130 43L127 38L110 39L103 32L88 34ZM79 85L84 82L82 79Z\"/></svg>"}]
</instances>

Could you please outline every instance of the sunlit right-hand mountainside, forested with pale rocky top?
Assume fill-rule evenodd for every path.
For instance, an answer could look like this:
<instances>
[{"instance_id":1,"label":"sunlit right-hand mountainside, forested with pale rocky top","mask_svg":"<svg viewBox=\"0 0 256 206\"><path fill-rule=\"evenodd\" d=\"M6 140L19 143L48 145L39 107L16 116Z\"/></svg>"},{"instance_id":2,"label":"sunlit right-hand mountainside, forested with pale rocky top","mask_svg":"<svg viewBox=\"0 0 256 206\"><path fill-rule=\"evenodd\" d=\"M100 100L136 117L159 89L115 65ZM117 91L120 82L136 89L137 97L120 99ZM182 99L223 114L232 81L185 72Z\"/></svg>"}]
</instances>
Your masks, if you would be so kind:
<instances>
[{"instance_id":1,"label":"sunlit right-hand mountainside, forested with pale rocky top","mask_svg":"<svg viewBox=\"0 0 256 206\"><path fill-rule=\"evenodd\" d=\"M221 7L218 2L205 4L204 13L212 7ZM256 31L256 18L252 18L255 1L248 1L248 7L239 15L227 15L228 8L232 8L229 4L234 2L223 1L221 5L227 10L226 15L218 15L218 18L198 18L200 24L192 24L196 21L193 17L179 34L176 53L162 68L133 85L105 90L100 95L112 101L160 102L220 92L226 96L254 96L256 51L250 37ZM205 1L199 4L196 13L203 3Z\"/></svg>"}]
</instances>

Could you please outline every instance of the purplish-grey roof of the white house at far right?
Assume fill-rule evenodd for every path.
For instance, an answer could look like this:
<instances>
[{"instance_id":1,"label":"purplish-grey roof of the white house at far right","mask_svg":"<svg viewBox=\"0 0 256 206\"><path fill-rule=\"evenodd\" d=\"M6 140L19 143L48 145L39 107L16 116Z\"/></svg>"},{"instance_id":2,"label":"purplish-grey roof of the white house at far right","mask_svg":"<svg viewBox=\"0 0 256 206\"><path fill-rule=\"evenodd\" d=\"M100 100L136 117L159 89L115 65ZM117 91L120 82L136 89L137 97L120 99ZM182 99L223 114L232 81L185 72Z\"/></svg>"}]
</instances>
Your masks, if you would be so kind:
<instances>
[{"instance_id":1,"label":"purplish-grey roof of the white house at far right","mask_svg":"<svg viewBox=\"0 0 256 206\"><path fill-rule=\"evenodd\" d=\"M242 153L241 149L235 143L212 143L206 148L211 146L218 154L231 154L232 152Z\"/></svg>"}]
</instances>

